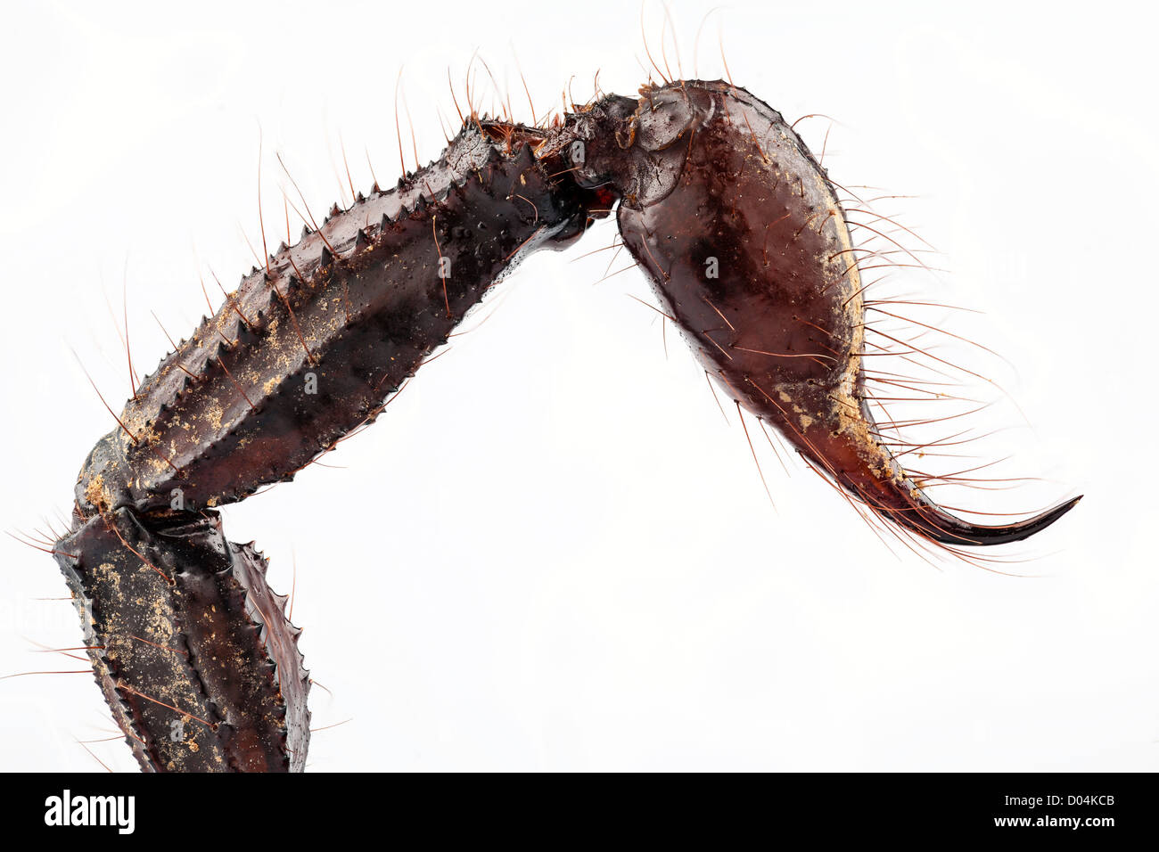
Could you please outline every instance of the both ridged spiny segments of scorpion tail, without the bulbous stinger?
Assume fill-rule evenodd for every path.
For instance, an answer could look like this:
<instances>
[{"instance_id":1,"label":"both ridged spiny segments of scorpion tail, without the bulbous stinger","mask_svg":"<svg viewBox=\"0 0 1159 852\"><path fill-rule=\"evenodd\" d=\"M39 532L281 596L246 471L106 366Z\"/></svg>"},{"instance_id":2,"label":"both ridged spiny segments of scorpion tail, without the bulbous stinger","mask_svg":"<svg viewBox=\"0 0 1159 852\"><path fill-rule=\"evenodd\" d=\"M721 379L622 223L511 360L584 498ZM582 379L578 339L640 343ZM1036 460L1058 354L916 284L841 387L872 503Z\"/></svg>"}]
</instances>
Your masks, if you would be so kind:
<instances>
[{"instance_id":1,"label":"both ridged spiny segments of scorpion tail, without the bulbous stinger","mask_svg":"<svg viewBox=\"0 0 1159 852\"><path fill-rule=\"evenodd\" d=\"M352 429L527 252L589 221L529 139L467 125L444 155L337 209L144 379L54 546L97 682L141 766L300 770L308 679L264 561L207 507L294 472Z\"/></svg>"}]
</instances>

